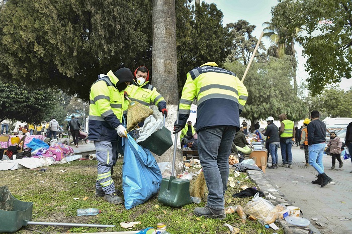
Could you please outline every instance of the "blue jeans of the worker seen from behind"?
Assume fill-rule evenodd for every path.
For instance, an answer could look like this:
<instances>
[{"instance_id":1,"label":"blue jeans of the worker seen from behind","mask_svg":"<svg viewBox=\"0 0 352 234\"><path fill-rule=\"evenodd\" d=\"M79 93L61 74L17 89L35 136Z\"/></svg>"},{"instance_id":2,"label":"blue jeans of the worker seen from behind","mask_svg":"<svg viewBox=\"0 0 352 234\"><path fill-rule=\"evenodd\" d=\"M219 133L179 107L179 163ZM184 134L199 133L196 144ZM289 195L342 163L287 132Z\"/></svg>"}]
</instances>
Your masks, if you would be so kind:
<instances>
[{"instance_id":1,"label":"blue jeans of the worker seen from behind","mask_svg":"<svg viewBox=\"0 0 352 234\"><path fill-rule=\"evenodd\" d=\"M224 194L229 176L228 157L236 127L214 126L198 131L198 152L208 187L207 205L224 209Z\"/></svg>"}]
</instances>

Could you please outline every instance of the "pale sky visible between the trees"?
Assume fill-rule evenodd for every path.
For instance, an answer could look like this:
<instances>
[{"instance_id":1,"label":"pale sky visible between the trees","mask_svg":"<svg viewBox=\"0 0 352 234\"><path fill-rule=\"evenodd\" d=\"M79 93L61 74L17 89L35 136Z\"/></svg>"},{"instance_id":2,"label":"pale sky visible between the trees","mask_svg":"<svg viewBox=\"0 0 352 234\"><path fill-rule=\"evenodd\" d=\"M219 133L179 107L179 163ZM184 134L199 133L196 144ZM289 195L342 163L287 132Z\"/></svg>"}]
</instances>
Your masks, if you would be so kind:
<instances>
[{"instance_id":1,"label":"pale sky visible between the trees","mask_svg":"<svg viewBox=\"0 0 352 234\"><path fill-rule=\"evenodd\" d=\"M224 15L223 25L228 23L235 23L238 20L246 20L251 25L255 25L256 28L252 34L256 38L259 38L261 32L266 26L262 26L264 22L270 22L272 15L271 9L278 3L277 0L201 0L208 4L215 3L217 8L220 9ZM262 42L266 48L269 48L270 41L267 38L263 38ZM307 59L302 55L303 47L298 43L295 44L297 51L297 83L300 85L301 82L309 77L309 74L305 71L304 64ZM352 86L352 79L342 79L339 85L343 90L349 90Z\"/></svg>"}]
</instances>

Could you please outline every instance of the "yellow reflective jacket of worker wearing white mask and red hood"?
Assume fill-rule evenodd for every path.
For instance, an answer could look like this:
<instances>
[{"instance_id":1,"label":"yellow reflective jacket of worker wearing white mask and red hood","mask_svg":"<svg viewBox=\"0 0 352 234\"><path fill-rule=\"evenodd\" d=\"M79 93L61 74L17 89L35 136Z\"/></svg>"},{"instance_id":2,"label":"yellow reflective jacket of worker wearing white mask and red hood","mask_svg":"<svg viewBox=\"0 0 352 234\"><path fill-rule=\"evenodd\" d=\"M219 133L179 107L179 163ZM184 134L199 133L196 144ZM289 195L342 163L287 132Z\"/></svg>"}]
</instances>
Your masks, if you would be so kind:
<instances>
[{"instance_id":1,"label":"yellow reflective jacket of worker wearing white mask and red hood","mask_svg":"<svg viewBox=\"0 0 352 234\"><path fill-rule=\"evenodd\" d=\"M133 84L128 85L125 91L128 93L128 96L132 101L138 101L146 106L149 106L150 103L154 103L161 112L161 109L166 108L166 101L161 94L156 91L156 88L148 83L149 81L146 81L143 85L139 86L134 82ZM127 100L126 103L128 106Z\"/></svg>"}]
</instances>

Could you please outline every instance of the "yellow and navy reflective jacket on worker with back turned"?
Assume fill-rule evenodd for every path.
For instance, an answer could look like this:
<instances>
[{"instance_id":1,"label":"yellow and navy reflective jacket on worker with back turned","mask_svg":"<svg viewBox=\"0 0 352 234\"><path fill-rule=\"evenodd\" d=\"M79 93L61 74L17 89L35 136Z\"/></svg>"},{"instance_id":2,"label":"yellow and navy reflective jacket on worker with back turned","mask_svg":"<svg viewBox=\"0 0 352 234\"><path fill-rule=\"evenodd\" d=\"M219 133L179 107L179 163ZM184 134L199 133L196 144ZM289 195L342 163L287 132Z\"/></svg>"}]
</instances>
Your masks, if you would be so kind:
<instances>
[{"instance_id":1,"label":"yellow and navy reflective jacket on worker with back turned","mask_svg":"<svg viewBox=\"0 0 352 234\"><path fill-rule=\"evenodd\" d=\"M179 124L185 126L194 98L198 99L197 132L210 126L240 127L239 114L248 92L236 74L208 62L187 73L180 100Z\"/></svg>"}]
</instances>

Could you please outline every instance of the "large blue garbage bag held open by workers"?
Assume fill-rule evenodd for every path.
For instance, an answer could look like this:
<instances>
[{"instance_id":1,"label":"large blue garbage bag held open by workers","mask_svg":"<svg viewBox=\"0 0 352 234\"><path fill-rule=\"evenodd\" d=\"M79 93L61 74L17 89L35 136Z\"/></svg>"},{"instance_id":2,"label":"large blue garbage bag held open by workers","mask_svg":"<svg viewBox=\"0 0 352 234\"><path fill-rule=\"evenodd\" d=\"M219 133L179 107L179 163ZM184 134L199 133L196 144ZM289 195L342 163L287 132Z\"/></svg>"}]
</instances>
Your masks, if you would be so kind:
<instances>
[{"instance_id":1,"label":"large blue garbage bag held open by workers","mask_svg":"<svg viewBox=\"0 0 352 234\"><path fill-rule=\"evenodd\" d=\"M159 191L162 176L149 150L138 145L129 134L127 139L123 139L123 144L122 190L125 208L131 209Z\"/></svg>"}]
</instances>

